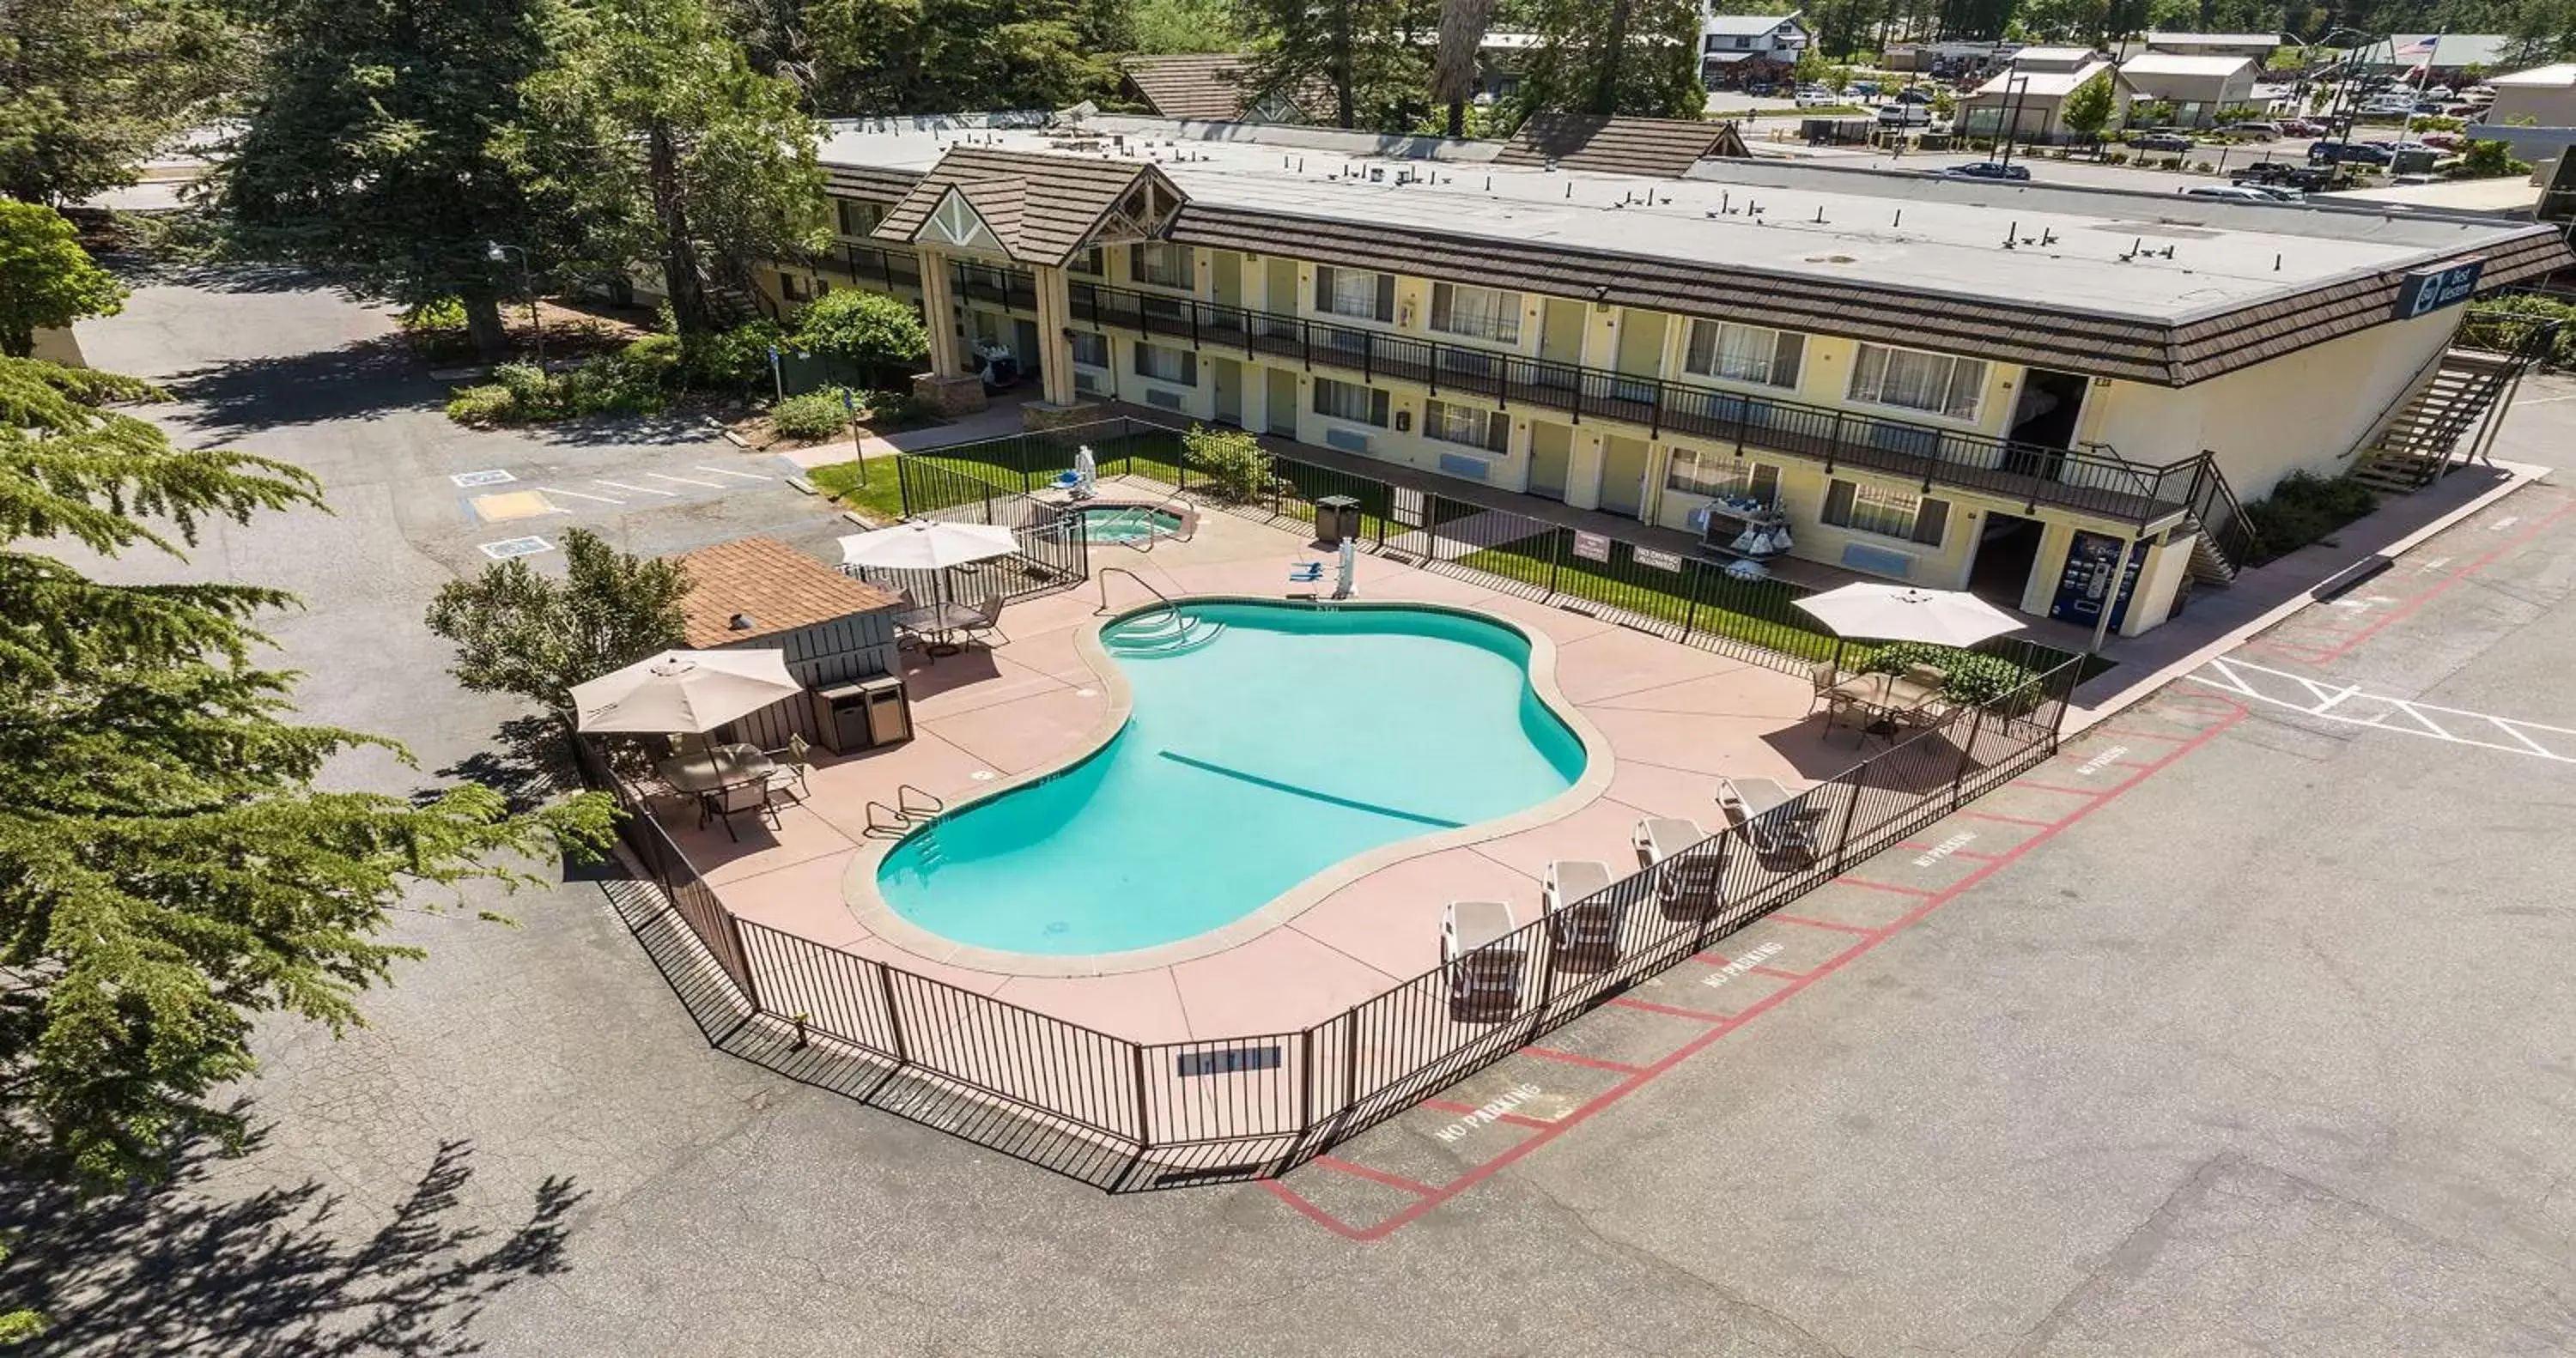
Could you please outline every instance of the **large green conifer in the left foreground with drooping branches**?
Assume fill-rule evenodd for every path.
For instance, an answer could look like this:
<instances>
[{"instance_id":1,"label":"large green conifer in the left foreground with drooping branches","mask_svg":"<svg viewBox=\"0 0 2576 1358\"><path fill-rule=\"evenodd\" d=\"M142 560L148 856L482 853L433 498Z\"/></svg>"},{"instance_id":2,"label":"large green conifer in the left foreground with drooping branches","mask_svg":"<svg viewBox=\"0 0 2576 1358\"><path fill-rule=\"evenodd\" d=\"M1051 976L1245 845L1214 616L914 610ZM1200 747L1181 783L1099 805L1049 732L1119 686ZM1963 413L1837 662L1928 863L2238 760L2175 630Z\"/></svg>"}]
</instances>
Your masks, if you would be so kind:
<instances>
[{"instance_id":1,"label":"large green conifer in the left foreground with drooping branches","mask_svg":"<svg viewBox=\"0 0 2576 1358\"><path fill-rule=\"evenodd\" d=\"M294 675L252 662L289 595L103 585L36 549L178 557L211 521L319 508L301 469L111 410L152 394L0 358L0 1162L98 1188L237 1144L216 1093L252 1072L252 1018L361 1023L417 956L379 941L410 894L526 881L513 861L587 853L613 814L319 791L332 755L399 747L289 722Z\"/></svg>"}]
</instances>

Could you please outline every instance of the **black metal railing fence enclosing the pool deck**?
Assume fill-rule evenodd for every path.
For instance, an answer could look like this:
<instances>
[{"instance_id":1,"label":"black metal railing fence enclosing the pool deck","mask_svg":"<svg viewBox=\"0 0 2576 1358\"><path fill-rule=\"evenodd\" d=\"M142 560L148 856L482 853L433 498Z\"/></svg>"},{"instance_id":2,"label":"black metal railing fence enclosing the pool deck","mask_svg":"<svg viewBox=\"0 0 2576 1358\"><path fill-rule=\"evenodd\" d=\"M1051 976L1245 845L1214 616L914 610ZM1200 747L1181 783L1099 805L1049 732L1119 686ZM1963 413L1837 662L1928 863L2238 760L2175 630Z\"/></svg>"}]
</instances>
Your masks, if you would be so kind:
<instances>
[{"instance_id":1,"label":"black metal railing fence enclosing the pool deck","mask_svg":"<svg viewBox=\"0 0 2576 1358\"><path fill-rule=\"evenodd\" d=\"M904 474L909 495L917 482L909 469ZM1113 474L1110 466L1103 474ZM948 482L925 477L920 484ZM1391 533L1378 544L1391 539L1396 549L1406 533L1437 528L1448 539L1461 521L1502 513L1468 508L1443 521L1443 500L1425 495L1425 518L1406 518L1394 495L1378 502L1391 510ZM1283 502L1229 508L1291 513ZM1517 559L1564 572L1564 557L1525 549L1546 536L1486 539L1476 531L1471 541L1476 551L1512 546ZM1633 564L1636 549L1628 551ZM1520 567L1497 575L1468 564L1471 557L1435 549L1422 559L1435 569L1538 588ZM1564 575L1556 585L1569 593ZM1620 621L1667 636L1718 649L1757 647L1734 631L1695 631L1695 595L1682 598L1680 621L1664 616L1662 600L1615 608L1643 618ZM590 737L577 737L577 750L585 778L611 789L629 812L623 843L662 894L662 904L631 923L672 984L693 997L693 1013L703 1010L701 1023L719 1049L1103 1191L1144 1191L1280 1175L2050 758L2081 662L2045 647L2004 652L2032 665L2020 688L1958 706L1752 827L1721 830L1574 902L1571 915L1602 925L1597 935L1561 935L1569 915L1530 920L1476 956L1473 987L1468 969L1435 966L1311 1028L1211 1041L1121 1038L742 920L652 817L647 794L616 773L618 750ZM1772 662L1806 665L1790 655ZM1507 977L1507 987L1492 990L1494 977Z\"/></svg>"}]
</instances>

